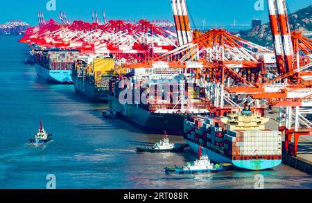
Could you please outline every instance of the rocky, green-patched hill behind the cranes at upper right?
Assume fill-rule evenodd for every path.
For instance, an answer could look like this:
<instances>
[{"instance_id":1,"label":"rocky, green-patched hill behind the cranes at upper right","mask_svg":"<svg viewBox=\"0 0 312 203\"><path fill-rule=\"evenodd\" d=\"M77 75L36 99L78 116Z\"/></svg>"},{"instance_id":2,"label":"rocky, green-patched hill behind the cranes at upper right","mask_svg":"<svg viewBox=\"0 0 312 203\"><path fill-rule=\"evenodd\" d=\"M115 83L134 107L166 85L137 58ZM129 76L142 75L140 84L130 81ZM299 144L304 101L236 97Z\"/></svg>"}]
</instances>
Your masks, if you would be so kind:
<instances>
[{"instance_id":1,"label":"rocky, green-patched hill behind the cranes at upper right","mask_svg":"<svg viewBox=\"0 0 312 203\"><path fill-rule=\"evenodd\" d=\"M311 37L312 35L312 5L302 8L289 16L289 21L293 29L300 30L304 35ZM270 29L270 23L263 24L261 27L253 28L240 32L243 39L262 46L272 46L273 38Z\"/></svg>"}]
</instances>

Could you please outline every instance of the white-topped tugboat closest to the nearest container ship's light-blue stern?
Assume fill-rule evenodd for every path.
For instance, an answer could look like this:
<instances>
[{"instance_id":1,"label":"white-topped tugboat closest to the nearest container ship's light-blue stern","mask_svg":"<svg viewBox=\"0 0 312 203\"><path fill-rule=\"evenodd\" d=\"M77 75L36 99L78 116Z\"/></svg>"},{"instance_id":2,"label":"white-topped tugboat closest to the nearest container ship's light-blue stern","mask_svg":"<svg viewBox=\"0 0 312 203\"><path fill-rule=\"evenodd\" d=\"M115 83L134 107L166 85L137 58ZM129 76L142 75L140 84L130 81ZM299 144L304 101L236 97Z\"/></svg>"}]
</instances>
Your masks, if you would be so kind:
<instances>
[{"instance_id":1,"label":"white-topped tugboat closest to the nearest container ship's light-blue stern","mask_svg":"<svg viewBox=\"0 0 312 203\"><path fill-rule=\"evenodd\" d=\"M198 160L193 161L193 164L187 163L182 168L166 167L164 168L166 173L177 173L177 174L193 174L193 173L213 173L225 171L230 164L213 164L209 160L207 155L201 155L201 148L198 150Z\"/></svg>"}]
</instances>

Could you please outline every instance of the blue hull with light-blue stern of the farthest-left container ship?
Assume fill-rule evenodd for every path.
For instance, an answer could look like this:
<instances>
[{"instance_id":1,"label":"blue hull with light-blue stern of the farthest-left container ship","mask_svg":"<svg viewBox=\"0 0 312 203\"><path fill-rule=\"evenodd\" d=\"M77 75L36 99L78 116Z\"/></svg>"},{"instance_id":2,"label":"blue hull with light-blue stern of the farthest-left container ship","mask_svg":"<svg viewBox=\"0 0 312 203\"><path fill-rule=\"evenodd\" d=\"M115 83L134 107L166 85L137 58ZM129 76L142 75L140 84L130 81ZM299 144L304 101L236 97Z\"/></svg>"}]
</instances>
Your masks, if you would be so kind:
<instances>
[{"instance_id":1,"label":"blue hull with light-blue stern of the farthest-left container ship","mask_svg":"<svg viewBox=\"0 0 312 203\"><path fill-rule=\"evenodd\" d=\"M57 84L73 84L71 70L49 70L40 64L35 64L37 76L44 78L46 82Z\"/></svg>"}]
</instances>

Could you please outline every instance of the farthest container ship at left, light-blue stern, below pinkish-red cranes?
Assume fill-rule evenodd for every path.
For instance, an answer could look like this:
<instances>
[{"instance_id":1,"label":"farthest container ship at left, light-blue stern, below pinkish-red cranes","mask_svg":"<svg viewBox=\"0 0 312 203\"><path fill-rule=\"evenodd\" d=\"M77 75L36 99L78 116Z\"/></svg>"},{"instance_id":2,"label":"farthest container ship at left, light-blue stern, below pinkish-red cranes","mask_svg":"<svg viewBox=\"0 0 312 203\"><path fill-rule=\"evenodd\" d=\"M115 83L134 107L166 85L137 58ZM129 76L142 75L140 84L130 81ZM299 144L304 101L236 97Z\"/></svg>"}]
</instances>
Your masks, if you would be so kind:
<instances>
[{"instance_id":1,"label":"farthest container ship at left, light-blue stern, below pinkish-red cranes","mask_svg":"<svg viewBox=\"0 0 312 203\"><path fill-rule=\"evenodd\" d=\"M59 49L34 50L37 76L46 82L73 84L71 70L73 62L78 58L78 51L62 51Z\"/></svg>"}]
</instances>

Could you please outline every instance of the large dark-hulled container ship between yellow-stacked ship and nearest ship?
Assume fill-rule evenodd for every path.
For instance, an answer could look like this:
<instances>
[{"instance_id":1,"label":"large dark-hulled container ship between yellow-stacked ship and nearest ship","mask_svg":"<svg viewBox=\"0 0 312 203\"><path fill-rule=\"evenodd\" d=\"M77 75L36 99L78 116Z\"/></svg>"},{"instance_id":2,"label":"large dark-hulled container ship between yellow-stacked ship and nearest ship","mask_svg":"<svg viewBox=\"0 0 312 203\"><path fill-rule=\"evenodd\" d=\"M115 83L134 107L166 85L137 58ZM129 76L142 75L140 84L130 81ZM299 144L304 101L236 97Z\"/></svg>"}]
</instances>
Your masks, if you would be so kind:
<instances>
[{"instance_id":1,"label":"large dark-hulled container ship between yellow-stacked ship and nearest ship","mask_svg":"<svg viewBox=\"0 0 312 203\"><path fill-rule=\"evenodd\" d=\"M135 69L110 80L109 98L121 118L148 132L183 135L187 116L209 114L205 89L190 76L173 69ZM126 102L121 102L125 91Z\"/></svg>"}]
</instances>

